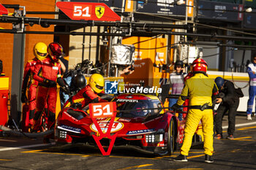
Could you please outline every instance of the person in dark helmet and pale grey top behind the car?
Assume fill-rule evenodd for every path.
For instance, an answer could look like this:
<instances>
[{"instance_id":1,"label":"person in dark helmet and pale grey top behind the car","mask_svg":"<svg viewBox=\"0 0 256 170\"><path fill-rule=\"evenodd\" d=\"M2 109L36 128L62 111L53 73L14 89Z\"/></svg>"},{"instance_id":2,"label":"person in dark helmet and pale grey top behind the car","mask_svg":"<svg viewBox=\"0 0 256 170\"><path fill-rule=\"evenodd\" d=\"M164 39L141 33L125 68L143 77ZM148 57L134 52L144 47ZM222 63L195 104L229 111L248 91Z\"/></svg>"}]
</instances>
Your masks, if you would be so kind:
<instances>
[{"instance_id":1,"label":"person in dark helmet and pale grey top behind the car","mask_svg":"<svg viewBox=\"0 0 256 170\"><path fill-rule=\"evenodd\" d=\"M174 72L170 74L170 87L172 88L172 95L180 95L182 88L184 87L184 63L183 61L176 61L174 64ZM169 108L176 104L178 98L169 99ZM178 114L178 120L182 120L182 113Z\"/></svg>"}]
</instances>

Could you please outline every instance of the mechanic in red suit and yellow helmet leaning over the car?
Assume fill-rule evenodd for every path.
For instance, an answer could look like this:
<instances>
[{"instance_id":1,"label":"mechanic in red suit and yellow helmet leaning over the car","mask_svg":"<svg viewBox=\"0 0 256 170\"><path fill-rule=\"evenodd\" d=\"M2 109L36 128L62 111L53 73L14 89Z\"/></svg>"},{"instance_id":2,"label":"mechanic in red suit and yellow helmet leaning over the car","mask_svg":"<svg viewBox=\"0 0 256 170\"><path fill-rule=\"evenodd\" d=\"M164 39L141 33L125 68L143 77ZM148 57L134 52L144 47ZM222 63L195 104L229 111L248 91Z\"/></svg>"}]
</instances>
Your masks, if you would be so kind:
<instances>
[{"instance_id":1,"label":"mechanic in red suit and yellow helmet leaning over the car","mask_svg":"<svg viewBox=\"0 0 256 170\"><path fill-rule=\"evenodd\" d=\"M82 88L75 96L69 98L64 107L83 108L90 103L108 102L100 98L104 88L104 78L101 74L92 74L89 78L89 85Z\"/></svg>"}]
</instances>

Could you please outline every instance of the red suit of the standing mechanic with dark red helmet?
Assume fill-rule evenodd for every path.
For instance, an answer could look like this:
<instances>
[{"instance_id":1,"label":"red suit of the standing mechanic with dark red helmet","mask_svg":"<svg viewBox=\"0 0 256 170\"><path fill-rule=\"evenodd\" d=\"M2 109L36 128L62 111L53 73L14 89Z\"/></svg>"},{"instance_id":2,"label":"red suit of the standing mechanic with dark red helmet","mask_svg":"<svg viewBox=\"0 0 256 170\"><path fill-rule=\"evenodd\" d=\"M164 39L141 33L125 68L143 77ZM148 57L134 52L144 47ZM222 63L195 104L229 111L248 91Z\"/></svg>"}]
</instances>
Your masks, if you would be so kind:
<instances>
[{"instance_id":1,"label":"red suit of the standing mechanic with dark red helmet","mask_svg":"<svg viewBox=\"0 0 256 170\"><path fill-rule=\"evenodd\" d=\"M57 88L56 85L55 87L49 87L45 80L56 82L59 77L61 77L61 64L53 62L50 55L37 62L34 68L34 80L39 82L39 88L37 93L37 112L34 120L37 121L42 111L45 111L48 117L48 128L55 121Z\"/></svg>"}]
</instances>

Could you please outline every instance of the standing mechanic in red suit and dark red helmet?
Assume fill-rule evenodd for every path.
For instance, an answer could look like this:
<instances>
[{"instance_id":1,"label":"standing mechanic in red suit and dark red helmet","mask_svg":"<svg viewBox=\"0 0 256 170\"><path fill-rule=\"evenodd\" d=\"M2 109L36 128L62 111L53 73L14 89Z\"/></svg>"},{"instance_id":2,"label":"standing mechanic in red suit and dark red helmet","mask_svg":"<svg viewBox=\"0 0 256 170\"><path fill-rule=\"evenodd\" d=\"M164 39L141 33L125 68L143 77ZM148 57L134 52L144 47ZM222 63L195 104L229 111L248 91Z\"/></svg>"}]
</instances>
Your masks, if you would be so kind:
<instances>
[{"instance_id":1,"label":"standing mechanic in red suit and dark red helmet","mask_svg":"<svg viewBox=\"0 0 256 170\"><path fill-rule=\"evenodd\" d=\"M37 123L45 111L48 118L47 128L51 128L55 121L56 112L56 98L57 88L56 82L67 93L69 87L64 83L61 78L61 63L59 58L63 53L63 48L59 43L52 42L48 45L48 55L42 60L38 61L34 68L34 80L39 82L39 88L37 93L37 112L34 115L34 125ZM35 128L33 125L33 128Z\"/></svg>"}]
</instances>

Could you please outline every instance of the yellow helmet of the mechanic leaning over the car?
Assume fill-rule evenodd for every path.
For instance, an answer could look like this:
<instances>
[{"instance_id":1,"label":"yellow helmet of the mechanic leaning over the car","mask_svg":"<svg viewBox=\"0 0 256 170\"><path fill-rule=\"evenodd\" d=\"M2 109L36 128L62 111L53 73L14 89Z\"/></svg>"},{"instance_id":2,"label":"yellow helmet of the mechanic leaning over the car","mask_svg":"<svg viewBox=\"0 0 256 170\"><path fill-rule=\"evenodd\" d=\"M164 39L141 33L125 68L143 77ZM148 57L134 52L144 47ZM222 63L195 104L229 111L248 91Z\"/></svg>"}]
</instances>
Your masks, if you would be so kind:
<instances>
[{"instance_id":1,"label":"yellow helmet of the mechanic leaning over the car","mask_svg":"<svg viewBox=\"0 0 256 170\"><path fill-rule=\"evenodd\" d=\"M96 93L101 93L104 88L104 78L101 74L92 74L89 78L89 85Z\"/></svg>"}]
</instances>

